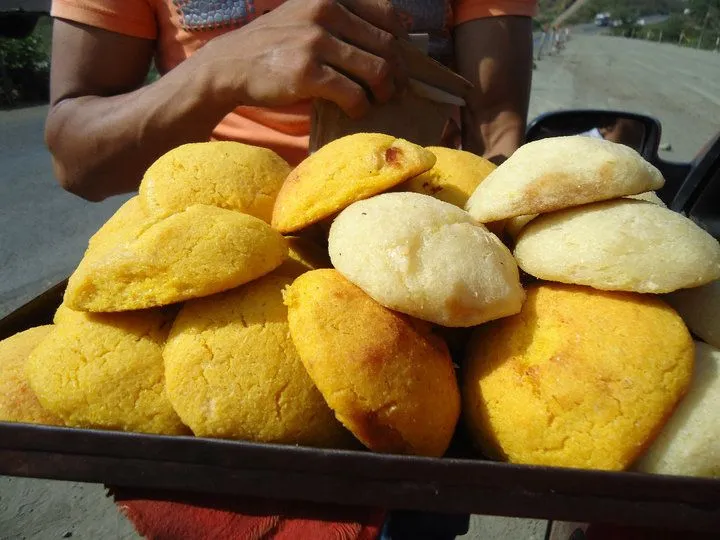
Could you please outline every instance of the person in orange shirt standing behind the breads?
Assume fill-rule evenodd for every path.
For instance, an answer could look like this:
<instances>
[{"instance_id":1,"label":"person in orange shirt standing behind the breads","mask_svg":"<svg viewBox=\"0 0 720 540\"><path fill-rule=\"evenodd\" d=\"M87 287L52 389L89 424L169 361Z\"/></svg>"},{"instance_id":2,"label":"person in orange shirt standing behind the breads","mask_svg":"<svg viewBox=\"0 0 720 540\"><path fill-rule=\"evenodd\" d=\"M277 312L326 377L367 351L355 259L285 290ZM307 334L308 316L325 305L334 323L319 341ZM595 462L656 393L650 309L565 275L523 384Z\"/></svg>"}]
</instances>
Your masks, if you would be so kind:
<instances>
[{"instance_id":1,"label":"person in orange shirt standing behind the breads","mask_svg":"<svg viewBox=\"0 0 720 540\"><path fill-rule=\"evenodd\" d=\"M364 114L404 86L397 39L475 84L463 148L523 139L536 0L53 0L46 141L55 174L88 200L137 189L180 144L211 138L307 155L309 100ZM161 77L145 85L154 60Z\"/></svg>"}]
</instances>

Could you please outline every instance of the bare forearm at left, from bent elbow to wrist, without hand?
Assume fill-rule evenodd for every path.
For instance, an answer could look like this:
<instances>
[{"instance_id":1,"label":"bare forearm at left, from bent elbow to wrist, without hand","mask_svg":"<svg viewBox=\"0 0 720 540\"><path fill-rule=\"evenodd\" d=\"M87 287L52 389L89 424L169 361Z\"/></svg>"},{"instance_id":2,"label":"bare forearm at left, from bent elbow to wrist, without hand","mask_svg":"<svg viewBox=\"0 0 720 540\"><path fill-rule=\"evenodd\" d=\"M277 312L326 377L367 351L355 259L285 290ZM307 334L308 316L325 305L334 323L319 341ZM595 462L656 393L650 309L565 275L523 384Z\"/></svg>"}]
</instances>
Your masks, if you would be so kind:
<instances>
[{"instance_id":1,"label":"bare forearm at left, from bent elbow to wrist, without hand","mask_svg":"<svg viewBox=\"0 0 720 540\"><path fill-rule=\"evenodd\" d=\"M134 191L155 159L208 140L232 108L193 58L129 93L66 97L52 106L46 123L55 174L65 189L89 200Z\"/></svg>"}]
</instances>

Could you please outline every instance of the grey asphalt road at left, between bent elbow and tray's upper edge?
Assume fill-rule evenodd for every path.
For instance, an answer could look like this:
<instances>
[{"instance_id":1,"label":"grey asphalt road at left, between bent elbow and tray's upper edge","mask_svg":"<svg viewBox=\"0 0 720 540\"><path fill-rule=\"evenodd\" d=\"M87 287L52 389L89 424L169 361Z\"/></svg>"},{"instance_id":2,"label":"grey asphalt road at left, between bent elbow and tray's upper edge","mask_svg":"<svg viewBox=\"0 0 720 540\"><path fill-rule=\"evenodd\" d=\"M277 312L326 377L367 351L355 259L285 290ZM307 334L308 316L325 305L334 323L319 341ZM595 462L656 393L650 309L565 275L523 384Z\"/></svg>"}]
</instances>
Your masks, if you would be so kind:
<instances>
[{"instance_id":1,"label":"grey asphalt road at left, between bent elbow and tray's upper edge","mask_svg":"<svg viewBox=\"0 0 720 540\"><path fill-rule=\"evenodd\" d=\"M0 316L67 277L125 200L90 204L56 184L43 143L46 112L0 111Z\"/></svg>"}]
</instances>

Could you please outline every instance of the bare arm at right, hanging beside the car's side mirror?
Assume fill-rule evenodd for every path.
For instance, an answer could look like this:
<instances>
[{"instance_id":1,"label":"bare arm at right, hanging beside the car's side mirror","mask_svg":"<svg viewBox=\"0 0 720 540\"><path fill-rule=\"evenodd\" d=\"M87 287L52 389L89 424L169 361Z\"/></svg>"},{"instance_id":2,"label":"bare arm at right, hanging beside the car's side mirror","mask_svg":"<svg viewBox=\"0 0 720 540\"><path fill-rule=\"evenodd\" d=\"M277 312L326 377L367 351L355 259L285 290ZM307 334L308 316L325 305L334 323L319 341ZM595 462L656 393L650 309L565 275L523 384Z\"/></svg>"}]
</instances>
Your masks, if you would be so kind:
<instances>
[{"instance_id":1,"label":"bare arm at right, hanging beside the car's side mirror","mask_svg":"<svg viewBox=\"0 0 720 540\"><path fill-rule=\"evenodd\" d=\"M532 78L529 17L491 17L455 30L458 71L475 85L463 110L463 148L494 161L522 144Z\"/></svg>"}]
</instances>

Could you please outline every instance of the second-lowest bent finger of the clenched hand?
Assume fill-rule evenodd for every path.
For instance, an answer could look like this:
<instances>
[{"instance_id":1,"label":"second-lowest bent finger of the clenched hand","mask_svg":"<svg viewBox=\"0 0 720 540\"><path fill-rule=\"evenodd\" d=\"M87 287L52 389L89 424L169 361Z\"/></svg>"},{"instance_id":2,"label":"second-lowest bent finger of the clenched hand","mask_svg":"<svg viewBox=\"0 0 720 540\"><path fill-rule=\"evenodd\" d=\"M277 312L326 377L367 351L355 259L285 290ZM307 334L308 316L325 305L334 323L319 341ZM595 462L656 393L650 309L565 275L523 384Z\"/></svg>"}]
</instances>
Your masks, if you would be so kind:
<instances>
[{"instance_id":1,"label":"second-lowest bent finger of the clenched hand","mask_svg":"<svg viewBox=\"0 0 720 540\"><path fill-rule=\"evenodd\" d=\"M321 45L324 64L351 77L372 92L379 103L385 103L395 93L395 82L389 62L327 35Z\"/></svg>"}]
</instances>

